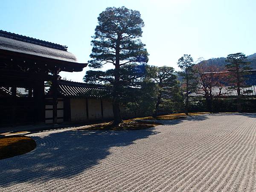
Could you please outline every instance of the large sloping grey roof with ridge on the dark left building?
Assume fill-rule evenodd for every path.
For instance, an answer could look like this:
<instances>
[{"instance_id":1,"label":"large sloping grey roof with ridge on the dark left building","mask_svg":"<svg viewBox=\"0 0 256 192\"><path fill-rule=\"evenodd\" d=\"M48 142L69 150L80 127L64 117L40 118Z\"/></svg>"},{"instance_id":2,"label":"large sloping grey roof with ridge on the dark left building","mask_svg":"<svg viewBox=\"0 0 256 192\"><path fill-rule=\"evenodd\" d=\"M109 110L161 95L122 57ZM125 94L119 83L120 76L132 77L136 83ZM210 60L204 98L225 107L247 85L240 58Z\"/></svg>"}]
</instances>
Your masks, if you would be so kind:
<instances>
[{"instance_id":1,"label":"large sloping grey roof with ridge on the dark left building","mask_svg":"<svg viewBox=\"0 0 256 192\"><path fill-rule=\"evenodd\" d=\"M75 55L68 52L66 46L2 30L0 30L0 49L61 61L77 62Z\"/></svg>"}]
</instances>

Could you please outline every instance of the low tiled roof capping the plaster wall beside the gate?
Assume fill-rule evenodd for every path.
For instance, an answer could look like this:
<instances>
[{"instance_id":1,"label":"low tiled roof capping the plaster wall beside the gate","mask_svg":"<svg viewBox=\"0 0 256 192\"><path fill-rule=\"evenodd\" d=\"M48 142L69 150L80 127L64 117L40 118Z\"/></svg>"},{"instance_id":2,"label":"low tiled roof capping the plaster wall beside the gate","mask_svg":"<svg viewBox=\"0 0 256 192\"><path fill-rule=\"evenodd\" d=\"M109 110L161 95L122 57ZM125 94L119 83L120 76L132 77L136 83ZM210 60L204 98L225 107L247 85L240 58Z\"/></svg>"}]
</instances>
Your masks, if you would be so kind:
<instances>
[{"instance_id":1,"label":"low tiled roof capping the plaster wall beside the gate","mask_svg":"<svg viewBox=\"0 0 256 192\"><path fill-rule=\"evenodd\" d=\"M86 83L65 80L58 81L58 90L64 96L90 98L100 98L106 96L111 91L108 87L94 87Z\"/></svg>"}]
</instances>

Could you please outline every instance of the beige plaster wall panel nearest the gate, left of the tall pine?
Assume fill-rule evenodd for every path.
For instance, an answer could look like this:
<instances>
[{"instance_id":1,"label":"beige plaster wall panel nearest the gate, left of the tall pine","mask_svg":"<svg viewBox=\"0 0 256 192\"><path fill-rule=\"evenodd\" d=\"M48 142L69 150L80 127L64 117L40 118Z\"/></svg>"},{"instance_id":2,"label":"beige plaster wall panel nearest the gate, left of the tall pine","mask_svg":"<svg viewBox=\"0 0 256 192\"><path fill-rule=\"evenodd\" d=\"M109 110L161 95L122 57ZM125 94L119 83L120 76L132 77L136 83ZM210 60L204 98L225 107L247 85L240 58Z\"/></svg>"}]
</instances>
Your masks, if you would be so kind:
<instances>
[{"instance_id":1,"label":"beige plaster wall panel nearest the gate, left of the tall pine","mask_svg":"<svg viewBox=\"0 0 256 192\"><path fill-rule=\"evenodd\" d=\"M86 100L70 99L71 121L86 121Z\"/></svg>"}]
</instances>

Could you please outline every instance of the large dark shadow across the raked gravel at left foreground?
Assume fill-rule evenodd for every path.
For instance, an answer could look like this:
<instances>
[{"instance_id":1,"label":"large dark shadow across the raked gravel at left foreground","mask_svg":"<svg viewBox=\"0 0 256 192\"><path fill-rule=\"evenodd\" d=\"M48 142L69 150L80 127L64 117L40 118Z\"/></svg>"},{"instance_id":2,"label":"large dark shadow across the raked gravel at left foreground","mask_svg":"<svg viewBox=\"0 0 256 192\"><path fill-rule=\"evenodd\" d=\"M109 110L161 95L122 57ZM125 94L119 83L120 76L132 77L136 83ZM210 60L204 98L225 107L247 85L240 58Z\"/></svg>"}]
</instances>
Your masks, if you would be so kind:
<instances>
[{"instance_id":1,"label":"large dark shadow across the raked gravel at left foreground","mask_svg":"<svg viewBox=\"0 0 256 192\"><path fill-rule=\"evenodd\" d=\"M131 145L135 140L157 134L154 128L137 131L48 133L45 137L32 137L37 142L34 151L0 160L1 187L77 175L105 159L110 154L111 147Z\"/></svg>"}]
</instances>

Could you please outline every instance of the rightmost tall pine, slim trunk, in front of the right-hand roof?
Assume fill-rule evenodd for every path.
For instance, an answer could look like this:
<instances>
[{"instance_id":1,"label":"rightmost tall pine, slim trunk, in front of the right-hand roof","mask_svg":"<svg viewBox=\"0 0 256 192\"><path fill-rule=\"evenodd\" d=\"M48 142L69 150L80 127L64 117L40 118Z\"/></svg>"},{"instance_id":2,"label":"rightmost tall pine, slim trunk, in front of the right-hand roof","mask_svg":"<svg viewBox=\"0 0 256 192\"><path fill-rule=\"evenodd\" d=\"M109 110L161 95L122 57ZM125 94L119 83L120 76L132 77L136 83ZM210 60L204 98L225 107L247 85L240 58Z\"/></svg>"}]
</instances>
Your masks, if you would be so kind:
<instances>
[{"instance_id":1,"label":"rightmost tall pine, slim trunk, in front of the right-hand roof","mask_svg":"<svg viewBox=\"0 0 256 192\"><path fill-rule=\"evenodd\" d=\"M239 52L227 55L226 68L230 72L231 80L233 81L234 88L237 91L237 111L241 112L241 89L245 86L245 76L248 75L251 68L248 66L250 62L247 57Z\"/></svg>"}]
</instances>

